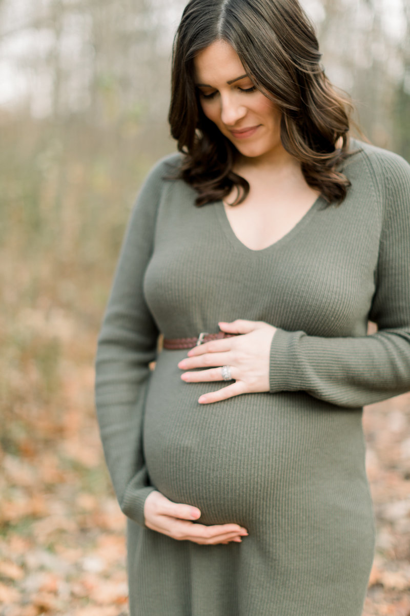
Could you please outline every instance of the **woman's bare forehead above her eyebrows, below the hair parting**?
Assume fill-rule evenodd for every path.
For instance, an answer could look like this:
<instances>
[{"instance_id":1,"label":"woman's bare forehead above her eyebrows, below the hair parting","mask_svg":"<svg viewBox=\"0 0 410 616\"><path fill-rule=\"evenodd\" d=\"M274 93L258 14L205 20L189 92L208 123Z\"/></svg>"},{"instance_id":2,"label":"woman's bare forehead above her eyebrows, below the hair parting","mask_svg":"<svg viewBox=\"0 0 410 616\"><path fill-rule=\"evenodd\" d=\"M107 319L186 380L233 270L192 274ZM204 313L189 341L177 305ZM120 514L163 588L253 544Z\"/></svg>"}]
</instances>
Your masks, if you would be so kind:
<instances>
[{"instance_id":1,"label":"woman's bare forehead above her eyebrows, below the hair parting","mask_svg":"<svg viewBox=\"0 0 410 616\"><path fill-rule=\"evenodd\" d=\"M226 83L246 71L234 48L226 41L215 41L200 51L194 59L195 80L213 85Z\"/></svg>"}]
</instances>

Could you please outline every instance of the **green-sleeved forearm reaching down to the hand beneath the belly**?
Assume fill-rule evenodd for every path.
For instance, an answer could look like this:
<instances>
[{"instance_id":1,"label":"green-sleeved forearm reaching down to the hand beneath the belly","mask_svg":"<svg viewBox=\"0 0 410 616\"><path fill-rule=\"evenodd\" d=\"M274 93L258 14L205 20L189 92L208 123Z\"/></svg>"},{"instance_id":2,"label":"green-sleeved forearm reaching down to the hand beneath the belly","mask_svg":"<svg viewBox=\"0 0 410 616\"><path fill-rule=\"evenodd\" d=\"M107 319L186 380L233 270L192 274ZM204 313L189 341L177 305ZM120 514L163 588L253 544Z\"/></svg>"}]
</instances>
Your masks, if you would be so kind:
<instances>
[{"instance_id":1,"label":"green-sleeved forearm reaching down to the hand beneath the belly","mask_svg":"<svg viewBox=\"0 0 410 616\"><path fill-rule=\"evenodd\" d=\"M156 355L156 331L125 345L113 336L109 316L101 329L96 361L95 401L106 463L122 511L143 524L149 484L143 457L142 423L148 364ZM116 342L113 342L116 339Z\"/></svg>"}]
</instances>

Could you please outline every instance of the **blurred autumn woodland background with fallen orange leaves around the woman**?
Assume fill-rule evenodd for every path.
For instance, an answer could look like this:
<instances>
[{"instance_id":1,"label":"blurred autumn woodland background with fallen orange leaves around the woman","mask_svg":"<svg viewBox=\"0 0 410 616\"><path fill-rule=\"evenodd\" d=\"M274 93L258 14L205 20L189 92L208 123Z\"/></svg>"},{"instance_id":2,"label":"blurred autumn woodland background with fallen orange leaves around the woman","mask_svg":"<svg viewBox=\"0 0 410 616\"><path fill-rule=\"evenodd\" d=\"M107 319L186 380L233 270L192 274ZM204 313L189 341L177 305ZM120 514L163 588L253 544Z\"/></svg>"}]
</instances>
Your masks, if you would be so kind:
<instances>
[{"instance_id":1,"label":"blurred autumn woodland background with fallen orange leaves around the woman","mask_svg":"<svg viewBox=\"0 0 410 616\"><path fill-rule=\"evenodd\" d=\"M175 149L183 4L0 0L0 616L127 614L93 356L138 187ZM410 160L408 0L302 4L366 136ZM364 424L378 528L364 614L409 616L409 396Z\"/></svg>"}]
</instances>

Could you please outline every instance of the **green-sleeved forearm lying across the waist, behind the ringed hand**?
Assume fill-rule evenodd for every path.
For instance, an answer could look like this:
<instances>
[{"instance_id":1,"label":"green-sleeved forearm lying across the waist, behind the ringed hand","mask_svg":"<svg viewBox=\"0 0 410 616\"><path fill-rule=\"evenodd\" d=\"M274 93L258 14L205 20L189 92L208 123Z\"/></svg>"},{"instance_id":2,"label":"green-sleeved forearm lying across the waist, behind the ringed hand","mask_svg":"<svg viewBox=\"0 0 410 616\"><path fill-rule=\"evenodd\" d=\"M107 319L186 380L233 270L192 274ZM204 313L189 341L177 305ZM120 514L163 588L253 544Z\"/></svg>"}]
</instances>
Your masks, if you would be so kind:
<instances>
[{"instance_id":1,"label":"green-sleeved forearm lying across the waist, behind the ringed hand","mask_svg":"<svg viewBox=\"0 0 410 616\"><path fill-rule=\"evenodd\" d=\"M270 391L306 391L357 408L410 389L410 330L359 338L320 338L277 330L270 349Z\"/></svg>"}]
</instances>

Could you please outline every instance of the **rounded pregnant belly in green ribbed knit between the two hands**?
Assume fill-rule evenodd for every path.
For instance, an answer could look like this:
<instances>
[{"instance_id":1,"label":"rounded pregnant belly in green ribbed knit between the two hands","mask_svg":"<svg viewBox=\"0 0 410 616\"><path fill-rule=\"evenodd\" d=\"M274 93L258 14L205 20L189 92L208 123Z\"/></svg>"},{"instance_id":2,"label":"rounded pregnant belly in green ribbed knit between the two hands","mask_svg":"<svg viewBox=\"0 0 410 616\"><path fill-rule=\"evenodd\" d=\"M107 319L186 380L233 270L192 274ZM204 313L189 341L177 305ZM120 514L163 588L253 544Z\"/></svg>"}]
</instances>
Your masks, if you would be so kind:
<instances>
[{"instance_id":1,"label":"rounded pregnant belly in green ribbed knit between the two hands","mask_svg":"<svg viewBox=\"0 0 410 616\"><path fill-rule=\"evenodd\" d=\"M186 352L163 351L151 376L144 454L152 485L202 511L203 524L237 522L312 493L367 494L361 415L306 394L245 394L200 405L219 383L184 383L177 363ZM345 488L344 488L345 486ZM277 505L275 505L277 503ZM334 508L335 503L328 503Z\"/></svg>"}]
</instances>

